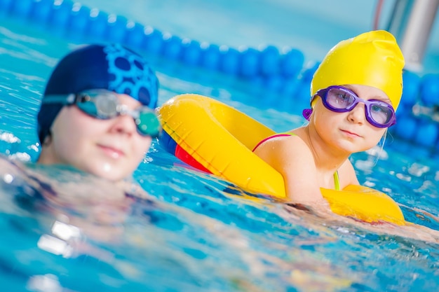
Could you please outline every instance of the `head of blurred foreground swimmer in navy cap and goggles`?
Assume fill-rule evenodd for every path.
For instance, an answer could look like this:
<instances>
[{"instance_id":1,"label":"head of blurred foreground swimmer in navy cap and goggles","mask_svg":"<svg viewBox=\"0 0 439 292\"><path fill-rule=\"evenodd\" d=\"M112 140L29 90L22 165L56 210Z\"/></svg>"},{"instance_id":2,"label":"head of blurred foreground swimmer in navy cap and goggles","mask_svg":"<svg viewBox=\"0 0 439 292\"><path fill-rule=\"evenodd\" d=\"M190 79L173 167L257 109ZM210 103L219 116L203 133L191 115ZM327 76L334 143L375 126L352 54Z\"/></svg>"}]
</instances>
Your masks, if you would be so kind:
<instances>
[{"instance_id":1,"label":"head of blurred foreground swimmer in navy cap and goggles","mask_svg":"<svg viewBox=\"0 0 439 292\"><path fill-rule=\"evenodd\" d=\"M154 113L157 95L157 77L137 53L119 45L72 51L46 85L37 162L125 179L161 131Z\"/></svg>"}]
</instances>

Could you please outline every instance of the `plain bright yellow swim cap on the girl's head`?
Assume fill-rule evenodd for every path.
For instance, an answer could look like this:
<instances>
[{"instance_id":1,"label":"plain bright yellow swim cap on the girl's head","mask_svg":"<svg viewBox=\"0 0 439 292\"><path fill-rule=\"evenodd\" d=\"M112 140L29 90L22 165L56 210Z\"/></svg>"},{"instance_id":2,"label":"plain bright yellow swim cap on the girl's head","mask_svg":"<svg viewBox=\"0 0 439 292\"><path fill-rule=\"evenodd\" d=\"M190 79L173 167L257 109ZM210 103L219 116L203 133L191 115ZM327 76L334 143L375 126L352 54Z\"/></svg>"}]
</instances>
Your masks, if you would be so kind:
<instances>
[{"instance_id":1,"label":"plain bright yellow swim cap on the girl's head","mask_svg":"<svg viewBox=\"0 0 439 292\"><path fill-rule=\"evenodd\" d=\"M327 53L311 81L311 99L330 85L369 85L384 91L396 110L403 94L403 67L403 53L391 33L365 32Z\"/></svg>"}]
</instances>

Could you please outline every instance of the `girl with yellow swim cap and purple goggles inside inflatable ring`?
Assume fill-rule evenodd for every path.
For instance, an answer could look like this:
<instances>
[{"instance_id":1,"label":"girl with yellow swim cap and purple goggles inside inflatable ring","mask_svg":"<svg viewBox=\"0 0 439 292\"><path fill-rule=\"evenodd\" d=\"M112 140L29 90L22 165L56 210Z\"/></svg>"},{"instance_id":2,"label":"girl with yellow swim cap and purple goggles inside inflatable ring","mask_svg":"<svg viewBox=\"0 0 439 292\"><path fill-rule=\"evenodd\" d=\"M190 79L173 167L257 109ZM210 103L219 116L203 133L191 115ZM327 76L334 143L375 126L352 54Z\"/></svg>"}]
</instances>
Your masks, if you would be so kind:
<instances>
[{"instance_id":1,"label":"girl with yellow swim cap and purple goggles inside inflatable ring","mask_svg":"<svg viewBox=\"0 0 439 292\"><path fill-rule=\"evenodd\" d=\"M309 124L254 150L283 175L292 201L326 204L320 188L359 184L349 155L377 145L396 123L403 67L398 43L386 31L341 41L327 53L311 81Z\"/></svg>"}]
</instances>

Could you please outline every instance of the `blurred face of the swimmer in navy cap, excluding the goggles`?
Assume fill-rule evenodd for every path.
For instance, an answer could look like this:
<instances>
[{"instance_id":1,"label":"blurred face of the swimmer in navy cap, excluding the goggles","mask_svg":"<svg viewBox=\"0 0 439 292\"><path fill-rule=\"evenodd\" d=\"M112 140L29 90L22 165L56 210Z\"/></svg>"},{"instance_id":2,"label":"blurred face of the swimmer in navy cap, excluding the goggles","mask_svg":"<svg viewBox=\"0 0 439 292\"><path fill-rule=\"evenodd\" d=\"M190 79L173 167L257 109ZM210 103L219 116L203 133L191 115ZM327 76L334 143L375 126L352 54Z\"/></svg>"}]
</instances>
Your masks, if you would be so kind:
<instances>
[{"instance_id":1,"label":"blurred face of the swimmer in navy cap, excluding the goggles","mask_svg":"<svg viewBox=\"0 0 439 292\"><path fill-rule=\"evenodd\" d=\"M142 105L128 95L118 97L129 109ZM43 163L72 165L104 179L119 181L133 173L149 146L151 137L137 132L131 116L99 120L77 106L64 106L53 122Z\"/></svg>"}]
</instances>

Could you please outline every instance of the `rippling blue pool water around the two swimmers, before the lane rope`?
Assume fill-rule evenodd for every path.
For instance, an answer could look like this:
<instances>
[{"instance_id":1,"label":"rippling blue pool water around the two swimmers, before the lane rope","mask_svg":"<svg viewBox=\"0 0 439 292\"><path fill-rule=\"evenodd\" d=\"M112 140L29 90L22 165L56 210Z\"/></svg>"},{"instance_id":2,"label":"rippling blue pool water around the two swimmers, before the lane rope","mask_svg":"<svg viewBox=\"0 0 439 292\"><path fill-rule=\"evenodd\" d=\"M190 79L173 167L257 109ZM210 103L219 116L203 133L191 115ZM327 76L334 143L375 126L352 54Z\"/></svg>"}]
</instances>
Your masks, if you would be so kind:
<instances>
[{"instance_id":1,"label":"rippling blue pool water around the two swimmers, before the lane rope","mask_svg":"<svg viewBox=\"0 0 439 292\"><path fill-rule=\"evenodd\" d=\"M226 42L227 36L218 37ZM77 44L37 25L1 18L1 153L36 159L41 92L57 60ZM304 123L299 111L306 100L291 104L282 93L256 92L254 83L165 58L153 64L161 82L159 104L193 92L235 106L277 131ZM146 199L121 196L73 169L34 166L32 174L53 177L51 186L60 192L53 200L41 200L32 180L0 167L2 287L57 292L437 290L437 154L390 135L382 153L373 149L353 155L352 161L360 183L388 193L407 221L419 226L320 218L184 167L158 141L135 172L150 194Z\"/></svg>"}]
</instances>

